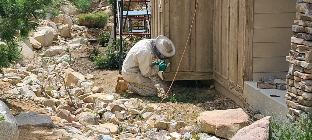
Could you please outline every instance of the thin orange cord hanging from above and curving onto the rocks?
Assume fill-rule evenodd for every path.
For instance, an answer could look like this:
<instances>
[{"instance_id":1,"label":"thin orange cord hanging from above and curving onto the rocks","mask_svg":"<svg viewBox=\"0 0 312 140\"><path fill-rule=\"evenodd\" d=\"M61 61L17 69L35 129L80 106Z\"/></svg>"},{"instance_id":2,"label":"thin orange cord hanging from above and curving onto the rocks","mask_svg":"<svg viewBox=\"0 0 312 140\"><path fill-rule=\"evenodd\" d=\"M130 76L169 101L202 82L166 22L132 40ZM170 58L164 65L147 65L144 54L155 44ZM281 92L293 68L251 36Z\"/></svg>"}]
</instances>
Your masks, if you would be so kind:
<instances>
[{"instance_id":1,"label":"thin orange cord hanging from above and curving onto the rocks","mask_svg":"<svg viewBox=\"0 0 312 140\"><path fill-rule=\"evenodd\" d=\"M190 36L191 36L191 31L192 31L192 27L193 27L193 22L194 22L194 19L195 19L196 11L197 11L198 1L199 1L199 0L197 0L197 3L196 3L196 8L195 8L195 12L194 12L194 17L193 17L193 20L192 20L190 32L189 32L189 34L188 34L188 40L190 39ZM173 85L173 82L174 82L174 80L175 80L175 78L176 78L176 76L177 76L177 74L178 74L178 71L179 71L179 68L180 68L180 64L181 64L181 62L182 62L183 56L184 56L185 51L186 51L186 48L187 48L187 46L188 46L188 40L186 41L186 44L185 44L185 47L184 47L184 51L183 51L182 57L181 57L181 59L180 59L179 65L178 65L177 72L175 73L175 75L174 75L174 77L173 77L173 80L172 80L172 82L171 82L171 85L170 85L170 87L169 87L167 93L165 94L165 96L163 96L163 100L164 100L164 99L166 98L166 96L168 95L168 93L169 93L169 91L170 91L170 89L171 89L171 87L172 87L172 85ZM155 109L155 111L149 116L149 118L146 119L146 120L145 120L142 124L140 124L139 126L133 128L132 130L129 130L129 131L127 131L127 132L124 132L124 133L120 133L120 134L110 134L110 135L115 135L115 136L122 135L122 134L125 134L125 133L129 133L130 131L133 131L133 130L136 129L136 128L141 127L147 120L149 120L149 119L152 117L153 114L155 114L155 112L156 112L156 110L158 109L158 107L161 105L161 103L163 103L163 100L161 100L161 102L159 103L159 105L157 106L157 108Z\"/></svg>"}]
</instances>

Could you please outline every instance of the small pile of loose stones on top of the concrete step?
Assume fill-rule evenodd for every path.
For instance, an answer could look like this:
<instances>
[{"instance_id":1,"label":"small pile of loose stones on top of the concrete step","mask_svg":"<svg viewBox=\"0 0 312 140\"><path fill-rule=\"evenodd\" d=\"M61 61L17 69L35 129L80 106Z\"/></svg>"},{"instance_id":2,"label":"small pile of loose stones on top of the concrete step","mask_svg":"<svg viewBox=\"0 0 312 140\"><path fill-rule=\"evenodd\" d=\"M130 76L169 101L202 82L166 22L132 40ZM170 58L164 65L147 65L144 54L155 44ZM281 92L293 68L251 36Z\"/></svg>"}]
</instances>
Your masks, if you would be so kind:
<instances>
[{"instance_id":1,"label":"small pile of loose stones on top of the concrete step","mask_svg":"<svg viewBox=\"0 0 312 140\"><path fill-rule=\"evenodd\" d=\"M286 90L286 80L276 79L276 76L262 77L261 82L257 82L258 88Z\"/></svg>"}]
</instances>

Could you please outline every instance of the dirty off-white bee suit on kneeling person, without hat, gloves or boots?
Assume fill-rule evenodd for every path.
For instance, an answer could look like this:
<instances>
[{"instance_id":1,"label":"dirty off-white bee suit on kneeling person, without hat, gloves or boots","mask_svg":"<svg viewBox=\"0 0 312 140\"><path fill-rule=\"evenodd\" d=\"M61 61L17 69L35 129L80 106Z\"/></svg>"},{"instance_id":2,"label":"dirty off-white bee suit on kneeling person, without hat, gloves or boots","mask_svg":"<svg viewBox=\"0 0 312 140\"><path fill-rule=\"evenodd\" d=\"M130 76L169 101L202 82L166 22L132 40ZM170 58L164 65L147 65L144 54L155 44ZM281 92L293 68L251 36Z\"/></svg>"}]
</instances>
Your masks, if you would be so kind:
<instances>
[{"instance_id":1,"label":"dirty off-white bee suit on kneeling person, without hat, gloves or boots","mask_svg":"<svg viewBox=\"0 0 312 140\"><path fill-rule=\"evenodd\" d=\"M153 58L157 56L151 39L141 40L129 50L121 70L129 91L141 96L157 95L157 89L149 78L159 71L159 67L153 64Z\"/></svg>"}]
</instances>

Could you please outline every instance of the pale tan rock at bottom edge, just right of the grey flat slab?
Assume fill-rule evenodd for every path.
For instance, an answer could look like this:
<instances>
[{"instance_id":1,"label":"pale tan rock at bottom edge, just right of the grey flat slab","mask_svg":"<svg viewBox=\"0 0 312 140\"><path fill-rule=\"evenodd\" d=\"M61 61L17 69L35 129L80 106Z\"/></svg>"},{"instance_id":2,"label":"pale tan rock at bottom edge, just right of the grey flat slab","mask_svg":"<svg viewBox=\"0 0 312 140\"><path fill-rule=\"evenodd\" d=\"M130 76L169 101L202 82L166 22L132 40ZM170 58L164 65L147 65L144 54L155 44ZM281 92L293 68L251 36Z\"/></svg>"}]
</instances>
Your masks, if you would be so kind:
<instances>
[{"instance_id":1,"label":"pale tan rock at bottom edge, just right of the grey flat slab","mask_svg":"<svg viewBox=\"0 0 312 140\"><path fill-rule=\"evenodd\" d=\"M72 126L63 129L57 129L52 133L52 136L58 136L61 140L71 140L74 138L78 140L90 140L89 138L85 137L79 129Z\"/></svg>"}]
</instances>

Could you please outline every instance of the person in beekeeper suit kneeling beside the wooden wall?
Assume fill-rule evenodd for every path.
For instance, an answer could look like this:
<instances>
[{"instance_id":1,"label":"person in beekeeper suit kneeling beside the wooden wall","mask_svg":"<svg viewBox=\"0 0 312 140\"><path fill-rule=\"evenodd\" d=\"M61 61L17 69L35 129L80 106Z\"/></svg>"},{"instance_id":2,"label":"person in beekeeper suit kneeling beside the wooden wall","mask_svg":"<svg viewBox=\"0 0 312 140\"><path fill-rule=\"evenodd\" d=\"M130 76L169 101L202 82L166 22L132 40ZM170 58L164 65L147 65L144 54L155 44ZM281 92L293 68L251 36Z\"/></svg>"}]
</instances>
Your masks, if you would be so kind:
<instances>
[{"instance_id":1,"label":"person in beekeeper suit kneeling beside the wooden wall","mask_svg":"<svg viewBox=\"0 0 312 140\"><path fill-rule=\"evenodd\" d=\"M167 59L175 54L173 42L163 35L152 39L141 40L128 52L118 76L116 93L127 93L127 90L141 96L156 96L157 89L149 77L164 71L167 65L153 62L153 59Z\"/></svg>"}]
</instances>

